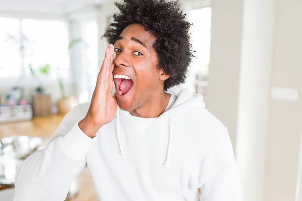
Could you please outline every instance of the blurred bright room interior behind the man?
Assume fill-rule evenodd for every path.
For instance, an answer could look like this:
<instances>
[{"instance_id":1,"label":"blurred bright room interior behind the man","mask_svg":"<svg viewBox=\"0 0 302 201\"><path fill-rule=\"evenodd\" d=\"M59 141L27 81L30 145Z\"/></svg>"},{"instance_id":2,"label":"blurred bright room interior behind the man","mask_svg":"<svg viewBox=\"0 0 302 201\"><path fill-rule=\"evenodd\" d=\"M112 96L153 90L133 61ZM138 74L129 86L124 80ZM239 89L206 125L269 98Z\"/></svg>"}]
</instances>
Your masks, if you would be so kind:
<instances>
[{"instance_id":1,"label":"blurred bright room interior behind the man","mask_svg":"<svg viewBox=\"0 0 302 201\"><path fill-rule=\"evenodd\" d=\"M302 200L302 1L183 0L186 83L229 129L247 201ZM16 167L90 100L110 0L0 0L0 200ZM60 182L60 181L58 181ZM85 169L69 200L97 200Z\"/></svg>"}]
</instances>

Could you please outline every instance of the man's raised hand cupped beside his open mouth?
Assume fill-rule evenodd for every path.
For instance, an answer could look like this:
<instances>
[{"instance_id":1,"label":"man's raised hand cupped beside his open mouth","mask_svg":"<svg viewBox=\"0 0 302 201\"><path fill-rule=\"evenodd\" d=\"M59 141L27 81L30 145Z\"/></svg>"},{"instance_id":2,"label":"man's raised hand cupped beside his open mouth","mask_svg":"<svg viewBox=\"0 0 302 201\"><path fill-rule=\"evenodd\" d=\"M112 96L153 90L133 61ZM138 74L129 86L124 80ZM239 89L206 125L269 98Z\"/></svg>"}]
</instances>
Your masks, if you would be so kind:
<instances>
[{"instance_id":1,"label":"man's raised hand cupped beside his open mouth","mask_svg":"<svg viewBox=\"0 0 302 201\"><path fill-rule=\"evenodd\" d=\"M92 95L90 107L85 118L79 122L80 129L89 137L105 124L112 121L116 113L116 95L112 96L113 89L113 60L116 58L114 46L106 48L105 58L98 74L97 84Z\"/></svg>"}]
</instances>

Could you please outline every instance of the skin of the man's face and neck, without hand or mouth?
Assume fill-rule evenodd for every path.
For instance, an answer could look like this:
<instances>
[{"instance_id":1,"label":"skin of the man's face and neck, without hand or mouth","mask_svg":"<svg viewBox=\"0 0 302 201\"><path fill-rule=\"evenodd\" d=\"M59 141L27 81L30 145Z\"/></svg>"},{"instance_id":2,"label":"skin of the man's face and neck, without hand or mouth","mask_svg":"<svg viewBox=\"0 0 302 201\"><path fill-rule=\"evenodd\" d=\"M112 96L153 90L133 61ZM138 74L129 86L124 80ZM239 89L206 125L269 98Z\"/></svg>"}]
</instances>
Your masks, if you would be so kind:
<instances>
[{"instance_id":1,"label":"skin of the man's face and neck, without hand or mouth","mask_svg":"<svg viewBox=\"0 0 302 201\"><path fill-rule=\"evenodd\" d=\"M129 25L115 42L116 58L113 74L127 75L133 86L125 95L117 93L118 105L138 117L157 117L164 112L170 94L164 92L169 75L158 69L153 48L156 37L139 24ZM117 81L115 86L117 87ZM116 91L119 91L116 88Z\"/></svg>"}]
</instances>

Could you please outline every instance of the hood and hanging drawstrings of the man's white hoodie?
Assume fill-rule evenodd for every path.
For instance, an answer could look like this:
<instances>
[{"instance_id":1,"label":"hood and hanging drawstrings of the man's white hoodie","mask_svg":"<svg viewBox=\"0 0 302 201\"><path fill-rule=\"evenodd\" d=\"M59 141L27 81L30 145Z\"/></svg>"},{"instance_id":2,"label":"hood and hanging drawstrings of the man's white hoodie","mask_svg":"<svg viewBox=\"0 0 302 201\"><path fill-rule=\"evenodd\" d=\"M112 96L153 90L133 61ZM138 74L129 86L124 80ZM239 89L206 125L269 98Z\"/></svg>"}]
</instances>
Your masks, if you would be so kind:
<instances>
[{"instance_id":1,"label":"hood and hanging drawstrings of the man's white hoodie","mask_svg":"<svg viewBox=\"0 0 302 201\"><path fill-rule=\"evenodd\" d=\"M170 167L170 152L172 148L172 136L173 136L173 116L177 115L179 113L182 113L183 111L188 110L189 108L205 108L205 103L203 101L203 97L200 94L193 94L188 89L181 89L178 87L173 87L171 89L168 89L168 93L171 93L176 96L176 100L174 104L171 106L171 108L167 111L165 111L163 114L161 114L158 118L169 118L169 123L167 126L169 126L169 140L168 140L168 148L166 152L166 160L163 163L163 166L165 168ZM120 113L122 113L124 116L138 118L132 116L129 112L121 110L119 107L117 107L116 112L116 135L117 135L117 141L120 148L120 154L125 154L125 151L123 149L123 146L121 144L120 140Z\"/></svg>"}]
</instances>

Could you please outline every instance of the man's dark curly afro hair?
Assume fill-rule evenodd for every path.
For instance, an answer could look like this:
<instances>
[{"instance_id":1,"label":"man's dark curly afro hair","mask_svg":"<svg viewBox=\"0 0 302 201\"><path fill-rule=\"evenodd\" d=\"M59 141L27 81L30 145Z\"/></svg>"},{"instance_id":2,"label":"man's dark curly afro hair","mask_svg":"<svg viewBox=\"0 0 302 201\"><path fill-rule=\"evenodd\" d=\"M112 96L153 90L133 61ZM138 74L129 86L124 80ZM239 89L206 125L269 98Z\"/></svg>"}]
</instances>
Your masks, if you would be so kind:
<instances>
[{"instance_id":1,"label":"man's dark curly afro hair","mask_svg":"<svg viewBox=\"0 0 302 201\"><path fill-rule=\"evenodd\" d=\"M144 26L156 37L153 48L158 57L157 68L170 75L164 82L164 90L184 83L194 56L189 34L191 24L186 21L179 1L123 0L114 4L120 13L113 15L114 22L102 38L114 44L127 26Z\"/></svg>"}]
</instances>

